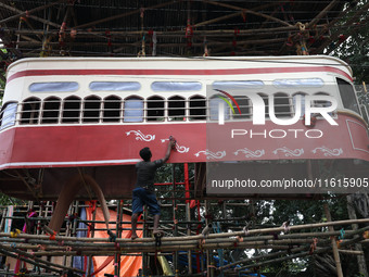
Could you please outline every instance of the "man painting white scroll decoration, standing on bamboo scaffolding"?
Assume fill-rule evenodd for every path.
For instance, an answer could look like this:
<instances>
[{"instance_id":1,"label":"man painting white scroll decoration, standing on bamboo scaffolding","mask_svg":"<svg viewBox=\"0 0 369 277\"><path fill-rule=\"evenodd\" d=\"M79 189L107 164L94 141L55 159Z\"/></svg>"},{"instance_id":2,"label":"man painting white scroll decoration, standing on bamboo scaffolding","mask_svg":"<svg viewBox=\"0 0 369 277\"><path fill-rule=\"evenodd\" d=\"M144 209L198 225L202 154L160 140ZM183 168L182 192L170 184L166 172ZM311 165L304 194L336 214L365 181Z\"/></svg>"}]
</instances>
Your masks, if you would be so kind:
<instances>
[{"instance_id":1,"label":"man painting white scroll decoration, standing on bamboo scaffolding","mask_svg":"<svg viewBox=\"0 0 369 277\"><path fill-rule=\"evenodd\" d=\"M160 235L158 222L161 217L161 207L157 203L154 192L154 177L156 169L166 163L170 156L170 151L176 144L176 141L170 137L167 151L163 159L151 162L152 153L150 148L145 147L141 149L140 156L142 162L136 164L137 182L132 191L132 236L131 239L138 238L137 236L137 219L140 213L143 211L143 205L147 204L149 212L154 216L154 229L153 235Z\"/></svg>"}]
</instances>

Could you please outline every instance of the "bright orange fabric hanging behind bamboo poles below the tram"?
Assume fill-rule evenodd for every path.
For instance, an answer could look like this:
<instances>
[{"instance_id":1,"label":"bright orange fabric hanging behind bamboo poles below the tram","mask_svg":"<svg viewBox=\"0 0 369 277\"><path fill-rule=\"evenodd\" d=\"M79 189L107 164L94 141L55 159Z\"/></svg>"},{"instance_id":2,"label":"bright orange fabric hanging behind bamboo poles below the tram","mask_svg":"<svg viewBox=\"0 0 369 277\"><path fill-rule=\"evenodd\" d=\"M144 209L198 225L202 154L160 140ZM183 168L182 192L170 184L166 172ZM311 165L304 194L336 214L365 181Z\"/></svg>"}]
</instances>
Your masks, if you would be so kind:
<instances>
[{"instance_id":1,"label":"bright orange fabric hanging behind bamboo poles below the tram","mask_svg":"<svg viewBox=\"0 0 369 277\"><path fill-rule=\"evenodd\" d=\"M124 214L122 217L123 222L130 222L131 217L130 215ZM87 207L87 219L92 219L92 207ZM96 221L102 221L104 222L104 215L100 207L97 209L97 216ZM116 212L110 210L110 222L116 222ZM104 223L94 224L94 228L105 228L106 225ZM115 224L109 225L110 229L113 230L115 234ZM141 228L142 225L138 224L138 228ZM123 224L122 228L131 228L130 224ZM138 230L137 235L141 238L142 237L142 230ZM131 231L130 230L123 230L122 231L122 238L130 238ZM94 238L109 238L109 235L106 231L94 231ZM93 270L97 270L100 268L100 266L103 265L104 262L106 262L107 256L94 256L92 259L93 261ZM109 260L107 260L109 261ZM129 277L129 276L137 276L138 270L142 268L142 256L120 256L120 276ZM104 267L101 272L99 272L97 277L103 277L104 274L113 274L114 275L114 259L110 262L110 264Z\"/></svg>"}]
</instances>

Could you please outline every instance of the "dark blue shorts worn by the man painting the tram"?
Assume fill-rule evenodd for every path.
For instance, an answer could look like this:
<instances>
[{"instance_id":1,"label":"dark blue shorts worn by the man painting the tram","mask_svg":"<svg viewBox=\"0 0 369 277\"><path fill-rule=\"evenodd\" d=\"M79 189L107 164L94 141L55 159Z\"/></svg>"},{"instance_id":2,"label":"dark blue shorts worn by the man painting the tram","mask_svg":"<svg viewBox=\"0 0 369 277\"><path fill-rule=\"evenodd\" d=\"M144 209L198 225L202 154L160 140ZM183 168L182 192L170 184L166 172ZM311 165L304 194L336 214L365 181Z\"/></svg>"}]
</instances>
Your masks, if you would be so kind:
<instances>
[{"instance_id":1,"label":"dark blue shorts worn by the man painting the tram","mask_svg":"<svg viewBox=\"0 0 369 277\"><path fill-rule=\"evenodd\" d=\"M152 215L161 214L161 207L157 203L156 196L144 188L136 188L132 191L132 213L140 214L143 211L143 205L149 206L149 212Z\"/></svg>"}]
</instances>

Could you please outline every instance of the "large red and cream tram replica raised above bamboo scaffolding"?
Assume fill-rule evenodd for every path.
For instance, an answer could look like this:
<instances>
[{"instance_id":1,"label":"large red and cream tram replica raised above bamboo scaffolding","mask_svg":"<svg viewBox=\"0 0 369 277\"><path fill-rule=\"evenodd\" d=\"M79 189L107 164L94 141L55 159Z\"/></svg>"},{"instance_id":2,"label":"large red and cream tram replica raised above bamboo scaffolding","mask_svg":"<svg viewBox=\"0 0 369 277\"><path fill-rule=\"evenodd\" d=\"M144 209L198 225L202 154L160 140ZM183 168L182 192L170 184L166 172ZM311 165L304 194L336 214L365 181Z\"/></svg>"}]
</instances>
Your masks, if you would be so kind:
<instances>
[{"instance_id":1,"label":"large red and cream tram replica raised above bamboo scaffolding","mask_svg":"<svg viewBox=\"0 0 369 277\"><path fill-rule=\"evenodd\" d=\"M231 93L227 88L234 84L245 91L236 98L239 113L227 106L225 131L209 138L206 128L219 124L214 114L220 105L208 91ZM247 91L262 97L266 109L268 96L275 97L280 118L293 116L296 95L332 96L338 109L330 115L338 125L318 116L309 126L303 114L292 125L278 125L268 115L265 125L254 125ZM234 144L232 129L243 134ZM160 159L169 136L177 139L169 163L239 161L243 154L255 178L314 174L314 161L334 160L347 176L366 176L369 168L368 126L352 71L331 56L23 59L7 74L0 189L24 199L55 199L63 182L84 172L107 199L130 197L139 150L150 147ZM279 163L292 160L313 161L313 173L303 162Z\"/></svg>"}]
</instances>

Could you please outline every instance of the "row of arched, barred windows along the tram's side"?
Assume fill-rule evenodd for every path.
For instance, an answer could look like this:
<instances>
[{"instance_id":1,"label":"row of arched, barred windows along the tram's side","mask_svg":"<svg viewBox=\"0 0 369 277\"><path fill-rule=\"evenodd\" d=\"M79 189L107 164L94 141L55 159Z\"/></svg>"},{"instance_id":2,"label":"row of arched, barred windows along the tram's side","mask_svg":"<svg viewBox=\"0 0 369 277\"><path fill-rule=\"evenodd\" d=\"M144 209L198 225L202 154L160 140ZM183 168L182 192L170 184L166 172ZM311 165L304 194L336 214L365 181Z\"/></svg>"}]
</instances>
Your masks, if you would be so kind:
<instances>
[{"instance_id":1,"label":"row of arched, barred windows along the tram's side","mask_svg":"<svg viewBox=\"0 0 369 277\"><path fill-rule=\"evenodd\" d=\"M267 95L258 93L265 103L266 116L269 116L269 99ZM302 106L305 100L303 92L293 96L278 92L273 95L275 114L277 117L291 117L294 115L296 96L301 96ZM316 95L327 95L318 92ZM234 102L232 109L225 104L225 119L252 118L253 106L245 96L234 96L241 113ZM173 121L217 121L219 102L217 96L206 99L194 95L188 99L173 96L164 99L152 96L147 99L130 96L122 99L118 96L109 96L101 99L89 96L81 99L69 96L64 99L48 97L41 101L36 97L27 98L23 103L10 102L1 112L1 129L10 127L18 121L20 124L78 124L78 123L139 123L139 122L173 122ZM325 101L315 101L314 105L330 105ZM237 112L232 112L234 110ZM304 109L303 109L304 111ZM302 114L303 115L303 114Z\"/></svg>"}]
</instances>

